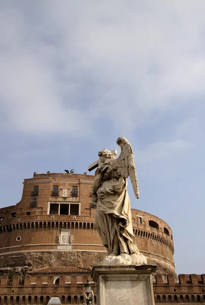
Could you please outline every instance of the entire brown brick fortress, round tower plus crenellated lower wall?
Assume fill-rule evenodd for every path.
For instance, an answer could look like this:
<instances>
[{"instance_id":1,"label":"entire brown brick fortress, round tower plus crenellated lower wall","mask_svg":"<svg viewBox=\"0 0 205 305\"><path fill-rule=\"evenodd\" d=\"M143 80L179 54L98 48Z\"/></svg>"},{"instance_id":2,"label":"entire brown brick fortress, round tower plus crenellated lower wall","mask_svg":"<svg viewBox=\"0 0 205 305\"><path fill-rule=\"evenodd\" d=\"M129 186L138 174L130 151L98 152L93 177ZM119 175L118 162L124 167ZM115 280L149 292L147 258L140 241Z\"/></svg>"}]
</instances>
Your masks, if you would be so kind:
<instances>
[{"instance_id":1,"label":"entire brown brick fortress, round tower plus crenellated lower wall","mask_svg":"<svg viewBox=\"0 0 205 305\"><path fill-rule=\"evenodd\" d=\"M82 304L83 284L106 250L94 229L94 176L33 174L22 199L0 209L0 304ZM171 228L158 217L132 209L136 245L157 264L155 302L205 303L205 275L179 275ZM95 287L93 291L96 294ZM96 298L96 296L95 296Z\"/></svg>"}]
</instances>

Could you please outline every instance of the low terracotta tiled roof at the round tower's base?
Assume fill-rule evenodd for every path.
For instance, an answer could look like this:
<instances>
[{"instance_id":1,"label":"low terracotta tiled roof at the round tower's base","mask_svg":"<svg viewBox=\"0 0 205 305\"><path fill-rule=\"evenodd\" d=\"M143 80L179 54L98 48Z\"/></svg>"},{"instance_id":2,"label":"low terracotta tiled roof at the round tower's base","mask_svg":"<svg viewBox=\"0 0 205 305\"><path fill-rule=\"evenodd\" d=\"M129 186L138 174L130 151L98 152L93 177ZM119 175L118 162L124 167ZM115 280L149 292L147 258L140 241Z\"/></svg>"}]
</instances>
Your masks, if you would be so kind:
<instances>
[{"instance_id":1,"label":"low terracotta tiled roof at the round tower's base","mask_svg":"<svg viewBox=\"0 0 205 305\"><path fill-rule=\"evenodd\" d=\"M71 267L71 266L57 266L57 267L43 267L28 272L29 274L43 274L43 273L90 273L90 269L85 269L81 267Z\"/></svg>"}]
</instances>

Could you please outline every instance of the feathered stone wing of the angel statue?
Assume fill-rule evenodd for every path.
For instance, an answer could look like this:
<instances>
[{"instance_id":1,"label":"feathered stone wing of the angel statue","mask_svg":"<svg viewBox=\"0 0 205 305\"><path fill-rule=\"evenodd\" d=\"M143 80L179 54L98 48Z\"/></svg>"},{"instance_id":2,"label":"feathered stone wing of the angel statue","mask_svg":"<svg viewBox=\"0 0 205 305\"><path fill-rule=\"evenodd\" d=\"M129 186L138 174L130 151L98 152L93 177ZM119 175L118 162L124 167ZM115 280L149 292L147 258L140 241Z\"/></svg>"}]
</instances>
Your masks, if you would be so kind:
<instances>
[{"instance_id":1,"label":"feathered stone wing of the angel statue","mask_svg":"<svg viewBox=\"0 0 205 305\"><path fill-rule=\"evenodd\" d=\"M113 161L114 168L117 170L118 175L127 178L130 177L132 188L136 199L139 199L140 193L138 188L138 176L134 165L134 157L132 147L127 139L119 137L117 144L121 148L120 156Z\"/></svg>"}]
</instances>

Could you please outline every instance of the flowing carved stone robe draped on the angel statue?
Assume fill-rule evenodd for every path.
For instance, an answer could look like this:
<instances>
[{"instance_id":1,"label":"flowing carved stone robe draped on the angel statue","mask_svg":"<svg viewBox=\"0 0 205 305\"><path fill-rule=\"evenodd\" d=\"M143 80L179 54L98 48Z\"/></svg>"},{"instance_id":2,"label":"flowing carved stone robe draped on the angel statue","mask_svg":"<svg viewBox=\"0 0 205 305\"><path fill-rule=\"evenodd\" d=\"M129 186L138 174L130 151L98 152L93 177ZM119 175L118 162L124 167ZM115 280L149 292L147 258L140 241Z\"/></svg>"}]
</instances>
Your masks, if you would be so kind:
<instances>
[{"instance_id":1,"label":"flowing carved stone robe draped on the angel statue","mask_svg":"<svg viewBox=\"0 0 205 305\"><path fill-rule=\"evenodd\" d=\"M112 159L111 159L112 160ZM113 252L113 240L117 232L120 253L139 254L131 223L130 201L127 180L118 176L112 161L107 160L97 170L102 181L97 190L97 207L94 227L96 228L108 255Z\"/></svg>"}]
</instances>

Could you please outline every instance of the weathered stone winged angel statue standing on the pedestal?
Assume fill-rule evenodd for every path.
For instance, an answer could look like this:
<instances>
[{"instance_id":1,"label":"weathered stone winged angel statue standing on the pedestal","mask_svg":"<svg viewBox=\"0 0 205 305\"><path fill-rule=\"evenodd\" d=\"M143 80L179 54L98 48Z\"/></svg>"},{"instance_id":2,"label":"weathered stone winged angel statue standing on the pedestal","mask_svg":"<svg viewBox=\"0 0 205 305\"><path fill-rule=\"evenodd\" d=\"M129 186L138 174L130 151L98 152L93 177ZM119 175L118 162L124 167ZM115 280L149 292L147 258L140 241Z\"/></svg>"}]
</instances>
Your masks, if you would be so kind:
<instances>
[{"instance_id":1,"label":"weathered stone winged angel statue standing on the pedestal","mask_svg":"<svg viewBox=\"0 0 205 305\"><path fill-rule=\"evenodd\" d=\"M139 198L132 148L127 139L119 137L120 156L108 149L99 151L100 166L95 171L92 188L93 201L97 203L94 227L108 256L101 264L146 264L146 257L135 245L132 230L127 177L130 177L135 197Z\"/></svg>"}]
</instances>

